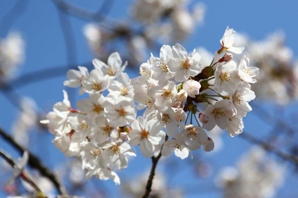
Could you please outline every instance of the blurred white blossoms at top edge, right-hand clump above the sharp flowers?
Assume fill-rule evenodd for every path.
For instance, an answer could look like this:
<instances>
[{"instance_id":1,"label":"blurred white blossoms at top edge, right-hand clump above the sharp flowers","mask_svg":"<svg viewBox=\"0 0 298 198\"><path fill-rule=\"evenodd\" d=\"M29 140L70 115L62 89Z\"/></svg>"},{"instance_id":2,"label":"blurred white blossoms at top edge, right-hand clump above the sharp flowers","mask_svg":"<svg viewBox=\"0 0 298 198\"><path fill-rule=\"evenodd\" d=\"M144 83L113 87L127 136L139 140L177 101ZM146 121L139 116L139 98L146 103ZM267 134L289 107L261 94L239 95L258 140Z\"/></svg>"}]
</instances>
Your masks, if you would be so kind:
<instances>
[{"instance_id":1,"label":"blurred white blossoms at top edge, right-hand clump above the sharp flowers","mask_svg":"<svg viewBox=\"0 0 298 198\"><path fill-rule=\"evenodd\" d=\"M146 35L167 40L182 40L202 23L205 15L203 3L191 5L188 0L137 0L132 6L132 16L147 25Z\"/></svg>"}]
</instances>

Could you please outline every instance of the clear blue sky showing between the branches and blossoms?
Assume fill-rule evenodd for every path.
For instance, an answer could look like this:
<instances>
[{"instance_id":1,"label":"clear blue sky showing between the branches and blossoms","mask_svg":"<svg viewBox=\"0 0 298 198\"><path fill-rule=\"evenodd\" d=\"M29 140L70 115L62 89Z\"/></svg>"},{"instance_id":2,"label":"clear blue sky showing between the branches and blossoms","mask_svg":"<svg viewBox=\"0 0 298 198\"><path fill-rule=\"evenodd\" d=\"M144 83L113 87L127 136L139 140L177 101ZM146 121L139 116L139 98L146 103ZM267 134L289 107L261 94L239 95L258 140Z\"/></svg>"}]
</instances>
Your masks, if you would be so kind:
<instances>
[{"instance_id":1,"label":"clear blue sky showing between the branches and blossoms","mask_svg":"<svg viewBox=\"0 0 298 198\"><path fill-rule=\"evenodd\" d=\"M3 0L1 2L0 20L15 2L15 0ZM71 2L82 5L90 10L96 10L96 8L100 6L98 0L72 0ZM115 0L110 16L126 17L127 5L130 2L130 0ZM201 0L198 2L204 2L207 6L206 18L204 24L198 27L195 33L182 43L189 51L198 46L204 46L211 52L218 50L220 47L219 41L222 38L224 29L226 26L229 26L230 28L234 28L236 32L247 34L249 38L253 40L264 39L274 31L283 31L286 35L286 44L293 49L295 57L298 57L298 27L296 24L296 19L298 18L298 1ZM76 60L73 60L72 63L79 65L90 62L92 60L92 54L88 49L82 34L82 27L87 22L71 17L71 23L77 54ZM26 42L26 60L21 68L20 74L51 68L53 66L67 65L67 51L59 22L58 10L52 1L29 0L25 12L13 22L9 29L9 31L14 30L19 31ZM7 29L0 29L1 37L5 37L6 33ZM134 76L136 75L136 72L130 72L130 75ZM65 79L66 75L58 76L21 86L17 91L24 96L33 98L40 109L50 111L52 105L61 101L63 98L62 90L65 89L63 86L63 81ZM3 96L2 93L0 93L0 109L2 110L0 113L0 126L6 131L10 131L11 124L17 115L17 109ZM267 130L268 127L266 128L262 122L256 120L257 119L254 116L248 116L244 121L246 126L245 129L250 132ZM52 158L52 161L49 162L50 164L62 161L64 159L63 155L50 143L52 136L45 135L45 137L46 139L43 140L36 139L36 144L32 145L32 150L43 160L47 160L48 156L43 156L42 153L50 153L50 157ZM42 144L49 145L44 147L45 150L37 151L37 145ZM4 145L4 142L1 139L0 145ZM220 168L222 165L233 165L235 160L239 157L239 154L248 148L249 145L250 144L239 138L231 139L225 134L224 149L219 154L212 156L212 162L216 162L214 164L219 164L215 166L215 169ZM7 147L7 145L5 144L4 147ZM10 150L9 147L7 147L7 149ZM203 154L204 156L203 152L200 152L200 154ZM148 162L150 161L149 159L146 160ZM146 160L142 161L146 162ZM134 170L137 170L137 172L143 171L142 168L137 169L140 167L140 164L135 161L136 160L133 161L132 166L129 169L124 170L124 175L129 175L130 173L134 175ZM189 171L186 171L185 174L186 176L191 176L191 172ZM184 179L186 179L186 176ZM295 179L295 177L288 177L288 180L289 181L286 182L285 187L283 187L283 190L280 192L280 195L285 196L291 195L293 192L297 193L297 190L293 189L293 181L298 182L297 179ZM108 182L107 184L110 188L113 188L111 182ZM212 194L212 197L219 195L220 194ZM209 197L210 195L206 196ZM195 195L188 196L188 198L195 197Z\"/></svg>"}]
</instances>

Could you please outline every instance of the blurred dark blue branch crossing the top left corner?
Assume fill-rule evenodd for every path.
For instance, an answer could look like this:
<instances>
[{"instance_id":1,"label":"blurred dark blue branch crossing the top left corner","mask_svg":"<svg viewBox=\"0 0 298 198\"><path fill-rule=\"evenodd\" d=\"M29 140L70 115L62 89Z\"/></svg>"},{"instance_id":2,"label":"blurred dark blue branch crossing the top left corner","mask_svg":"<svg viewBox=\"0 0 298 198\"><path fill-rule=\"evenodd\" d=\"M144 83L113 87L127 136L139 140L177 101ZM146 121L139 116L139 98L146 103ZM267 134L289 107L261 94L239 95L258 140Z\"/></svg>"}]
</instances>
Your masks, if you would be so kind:
<instances>
[{"instance_id":1,"label":"blurred dark blue branch crossing the top left corner","mask_svg":"<svg viewBox=\"0 0 298 198\"><path fill-rule=\"evenodd\" d=\"M29 0L17 0L12 8L10 8L0 20L0 31L3 33L8 31L13 22L19 18L27 8ZM4 32L6 33L6 32Z\"/></svg>"}]
</instances>

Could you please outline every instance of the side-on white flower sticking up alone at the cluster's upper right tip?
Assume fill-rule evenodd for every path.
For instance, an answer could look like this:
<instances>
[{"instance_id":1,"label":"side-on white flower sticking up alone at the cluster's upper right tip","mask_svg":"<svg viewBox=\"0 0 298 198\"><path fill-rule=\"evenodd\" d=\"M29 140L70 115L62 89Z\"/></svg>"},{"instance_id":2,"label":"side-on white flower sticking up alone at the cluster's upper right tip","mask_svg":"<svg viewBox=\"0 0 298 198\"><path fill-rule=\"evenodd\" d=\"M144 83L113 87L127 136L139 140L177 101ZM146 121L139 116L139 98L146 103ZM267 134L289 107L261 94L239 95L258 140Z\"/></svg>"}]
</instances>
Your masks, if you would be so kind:
<instances>
[{"instance_id":1,"label":"side-on white flower sticking up alone at the cluster's upper right tip","mask_svg":"<svg viewBox=\"0 0 298 198\"><path fill-rule=\"evenodd\" d=\"M233 46L234 41L235 41L235 31L233 29L228 29L228 27L226 27L224 36L221 39L222 49L219 51L219 54L221 54L222 51L241 54L244 50L244 47L234 47Z\"/></svg>"}]
</instances>

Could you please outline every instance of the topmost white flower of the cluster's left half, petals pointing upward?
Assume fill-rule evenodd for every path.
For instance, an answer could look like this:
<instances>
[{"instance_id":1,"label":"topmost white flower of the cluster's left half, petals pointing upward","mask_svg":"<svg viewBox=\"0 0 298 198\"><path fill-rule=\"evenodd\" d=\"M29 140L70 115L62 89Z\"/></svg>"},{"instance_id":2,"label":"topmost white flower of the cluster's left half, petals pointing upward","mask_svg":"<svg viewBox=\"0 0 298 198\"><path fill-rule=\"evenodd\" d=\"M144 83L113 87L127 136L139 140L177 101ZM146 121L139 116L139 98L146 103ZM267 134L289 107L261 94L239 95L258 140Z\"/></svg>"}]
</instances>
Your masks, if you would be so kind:
<instances>
[{"instance_id":1,"label":"topmost white flower of the cluster's left half, petals pointing upward","mask_svg":"<svg viewBox=\"0 0 298 198\"><path fill-rule=\"evenodd\" d=\"M101 70L104 75L109 75L111 78L116 78L127 66L127 61L122 65L122 60L118 52L114 52L109 56L107 65L98 59L93 59L92 63L95 68Z\"/></svg>"}]
</instances>

